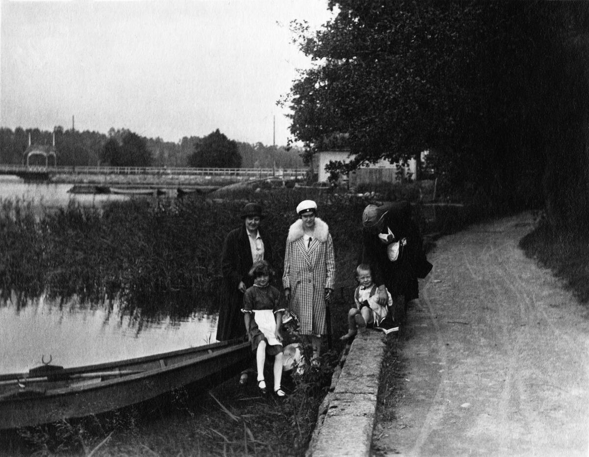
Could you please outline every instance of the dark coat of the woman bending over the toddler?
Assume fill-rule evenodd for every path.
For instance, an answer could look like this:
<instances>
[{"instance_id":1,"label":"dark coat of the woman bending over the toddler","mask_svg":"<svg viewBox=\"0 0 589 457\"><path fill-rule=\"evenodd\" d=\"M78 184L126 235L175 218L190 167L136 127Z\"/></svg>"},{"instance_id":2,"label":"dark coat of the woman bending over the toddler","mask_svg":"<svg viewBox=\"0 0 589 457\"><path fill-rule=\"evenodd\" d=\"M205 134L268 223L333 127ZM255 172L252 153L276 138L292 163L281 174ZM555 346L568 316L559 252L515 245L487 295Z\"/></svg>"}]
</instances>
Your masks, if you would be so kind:
<instances>
[{"instance_id":1,"label":"dark coat of the woman bending over the toddler","mask_svg":"<svg viewBox=\"0 0 589 457\"><path fill-rule=\"evenodd\" d=\"M383 216L383 233L391 229L395 241L406 238L406 244L399 251L399 257L391 262L378 234L362 231L362 263L372 268L375 284L384 284L393 298L403 295L405 301L419 297L417 278L428 264L423 253L423 242L418 225L411 218L411 205L407 202L389 203L388 212ZM430 266L431 268L431 266Z\"/></svg>"}]
</instances>

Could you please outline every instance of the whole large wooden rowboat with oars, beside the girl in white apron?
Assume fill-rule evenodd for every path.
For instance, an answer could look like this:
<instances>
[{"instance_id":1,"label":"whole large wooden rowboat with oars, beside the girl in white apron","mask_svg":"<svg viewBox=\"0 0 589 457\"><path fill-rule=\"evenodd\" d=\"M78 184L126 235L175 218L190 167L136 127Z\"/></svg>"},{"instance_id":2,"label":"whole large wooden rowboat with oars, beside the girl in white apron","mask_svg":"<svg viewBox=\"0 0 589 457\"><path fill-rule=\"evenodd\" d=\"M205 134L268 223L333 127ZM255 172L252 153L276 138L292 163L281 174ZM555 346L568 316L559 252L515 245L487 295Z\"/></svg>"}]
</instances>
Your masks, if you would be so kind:
<instances>
[{"instance_id":1,"label":"whole large wooden rowboat with oars, beside the girl in white apron","mask_svg":"<svg viewBox=\"0 0 589 457\"><path fill-rule=\"evenodd\" d=\"M96 415L249 366L249 342L227 341L112 363L0 374L0 430Z\"/></svg>"}]
</instances>

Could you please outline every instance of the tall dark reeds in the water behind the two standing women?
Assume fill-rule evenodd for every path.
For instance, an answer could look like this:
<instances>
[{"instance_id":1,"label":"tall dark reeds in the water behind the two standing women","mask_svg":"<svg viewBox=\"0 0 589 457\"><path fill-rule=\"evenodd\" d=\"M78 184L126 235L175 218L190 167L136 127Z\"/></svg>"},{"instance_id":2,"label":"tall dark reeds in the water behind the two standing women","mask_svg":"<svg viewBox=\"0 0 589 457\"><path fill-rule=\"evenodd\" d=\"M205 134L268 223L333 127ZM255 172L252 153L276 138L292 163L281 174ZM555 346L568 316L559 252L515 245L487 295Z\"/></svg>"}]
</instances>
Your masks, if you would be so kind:
<instances>
[{"instance_id":1,"label":"tall dark reeds in the water behind the two standing women","mask_svg":"<svg viewBox=\"0 0 589 457\"><path fill-rule=\"evenodd\" d=\"M214 306L223 239L243 223L247 201L264 206L280 282L287 230L296 205L307 198L317 200L336 251L358 252L366 202L311 189L240 192L223 200L137 199L102 209L70 204L41 218L28 203L7 201L0 213L0 288L28 297L77 295L82 303L117 298L130 315L183 317Z\"/></svg>"}]
</instances>

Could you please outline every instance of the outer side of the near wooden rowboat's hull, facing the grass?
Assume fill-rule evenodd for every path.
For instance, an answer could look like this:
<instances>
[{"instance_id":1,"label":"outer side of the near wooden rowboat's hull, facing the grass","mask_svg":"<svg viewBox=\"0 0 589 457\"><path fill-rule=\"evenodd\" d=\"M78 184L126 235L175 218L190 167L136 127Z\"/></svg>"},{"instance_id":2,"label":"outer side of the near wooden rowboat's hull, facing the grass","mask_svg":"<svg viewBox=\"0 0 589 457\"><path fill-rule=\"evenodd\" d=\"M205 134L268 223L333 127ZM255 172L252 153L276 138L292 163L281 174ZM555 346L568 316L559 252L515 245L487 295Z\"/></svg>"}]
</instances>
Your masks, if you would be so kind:
<instances>
[{"instance_id":1,"label":"outer side of the near wooden rowboat's hull, facing the grass","mask_svg":"<svg viewBox=\"0 0 589 457\"><path fill-rule=\"evenodd\" d=\"M214 346L214 345L210 345ZM22 390L14 396L0 399L0 429L14 429L44 423L58 422L120 409L145 402L175 389L202 382L224 371L235 372L249 366L252 350L250 343L211 349L211 353L183 361L174 360L167 365L166 357L150 360L159 368L112 379L82 379L70 386ZM121 371L137 364L121 367Z\"/></svg>"}]
</instances>

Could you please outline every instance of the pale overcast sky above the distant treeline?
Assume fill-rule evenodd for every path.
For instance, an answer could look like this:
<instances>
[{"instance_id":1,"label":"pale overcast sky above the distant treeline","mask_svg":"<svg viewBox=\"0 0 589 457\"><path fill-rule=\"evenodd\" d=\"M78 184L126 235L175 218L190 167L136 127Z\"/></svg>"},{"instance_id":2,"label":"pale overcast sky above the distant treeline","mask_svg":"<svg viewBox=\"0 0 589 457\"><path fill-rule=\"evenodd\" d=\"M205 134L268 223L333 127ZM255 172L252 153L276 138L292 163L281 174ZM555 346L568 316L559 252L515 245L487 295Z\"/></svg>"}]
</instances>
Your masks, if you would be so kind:
<instances>
[{"instance_id":1,"label":"pale overcast sky above the distant treeline","mask_svg":"<svg viewBox=\"0 0 589 457\"><path fill-rule=\"evenodd\" d=\"M296 69L289 22L327 0L0 0L0 126L125 128L177 142L220 129L286 144L276 101Z\"/></svg>"}]
</instances>

